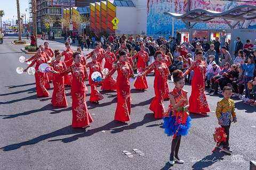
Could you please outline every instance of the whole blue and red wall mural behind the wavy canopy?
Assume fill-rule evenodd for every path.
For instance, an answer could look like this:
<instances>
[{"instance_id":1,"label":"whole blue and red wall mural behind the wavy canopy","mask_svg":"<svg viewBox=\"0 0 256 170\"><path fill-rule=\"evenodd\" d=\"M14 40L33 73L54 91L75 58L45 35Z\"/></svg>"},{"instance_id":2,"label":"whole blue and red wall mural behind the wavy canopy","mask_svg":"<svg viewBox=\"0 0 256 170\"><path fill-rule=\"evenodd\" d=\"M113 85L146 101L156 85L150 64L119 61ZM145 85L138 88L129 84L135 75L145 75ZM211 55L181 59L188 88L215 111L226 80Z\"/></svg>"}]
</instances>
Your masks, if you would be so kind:
<instances>
[{"instance_id":1,"label":"whole blue and red wall mural behind the wavy canopy","mask_svg":"<svg viewBox=\"0 0 256 170\"><path fill-rule=\"evenodd\" d=\"M255 0L246 1L219 1L219 0L190 0L190 9L204 9L225 12L239 5L254 5ZM171 35L172 17L164 12L185 14L188 12L188 0L148 0L147 4L147 33L149 35ZM231 24L235 21L230 21ZM240 22L237 28L256 28L256 19ZM174 31L187 29L181 20L174 21ZM197 23L194 29L230 29L225 21L220 18L208 22Z\"/></svg>"}]
</instances>

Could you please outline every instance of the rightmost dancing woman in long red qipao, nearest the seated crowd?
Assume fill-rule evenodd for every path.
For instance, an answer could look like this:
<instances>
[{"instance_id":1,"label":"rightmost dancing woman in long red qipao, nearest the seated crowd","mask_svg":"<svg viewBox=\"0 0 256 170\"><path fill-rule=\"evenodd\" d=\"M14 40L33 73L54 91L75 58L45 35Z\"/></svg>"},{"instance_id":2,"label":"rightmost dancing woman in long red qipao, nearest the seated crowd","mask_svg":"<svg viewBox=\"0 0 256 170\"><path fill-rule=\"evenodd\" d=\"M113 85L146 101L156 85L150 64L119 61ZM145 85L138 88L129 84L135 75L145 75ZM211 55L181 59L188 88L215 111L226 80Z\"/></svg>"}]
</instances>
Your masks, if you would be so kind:
<instances>
[{"instance_id":1,"label":"rightmost dancing woman in long red qipao, nearest the seated crowd","mask_svg":"<svg viewBox=\"0 0 256 170\"><path fill-rule=\"evenodd\" d=\"M193 62L188 70L186 70L184 73L184 75L187 75L188 73L190 73L190 71L194 70L194 76L191 83L192 91L189 97L188 111L192 113L201 113L202 115L207 115L206 112L211 112L211 109L204 94L204 74L206 73L206 64L202 61L202 50L197 50L196 57L197 60Z\"/></svg>"}]
</instances>

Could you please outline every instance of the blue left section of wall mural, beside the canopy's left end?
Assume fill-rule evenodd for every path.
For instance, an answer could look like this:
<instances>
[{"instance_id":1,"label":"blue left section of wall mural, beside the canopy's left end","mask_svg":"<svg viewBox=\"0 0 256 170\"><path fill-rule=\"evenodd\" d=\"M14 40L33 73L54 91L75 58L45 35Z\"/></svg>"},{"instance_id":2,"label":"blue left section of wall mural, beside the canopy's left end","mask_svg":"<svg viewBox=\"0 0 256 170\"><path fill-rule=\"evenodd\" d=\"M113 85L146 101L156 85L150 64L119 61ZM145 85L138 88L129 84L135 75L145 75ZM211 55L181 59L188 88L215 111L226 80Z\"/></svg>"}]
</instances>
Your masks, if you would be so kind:
<instances>
[{"instance_id":1,"label":"blue left section of wall mural, beside the canopy's left end","mask_svg":"<svg viewBox=\"0 0 256 170\"><path fill-rule=\"evenodd\" d=\"M147 33L149 35L171 35L172 18L163 13L184 14L188 12L188 0L148 0L147 7ZM174 31L183 28L186 28L186 25L181 20L175 21Z\"/></svg>"}]
</instances>

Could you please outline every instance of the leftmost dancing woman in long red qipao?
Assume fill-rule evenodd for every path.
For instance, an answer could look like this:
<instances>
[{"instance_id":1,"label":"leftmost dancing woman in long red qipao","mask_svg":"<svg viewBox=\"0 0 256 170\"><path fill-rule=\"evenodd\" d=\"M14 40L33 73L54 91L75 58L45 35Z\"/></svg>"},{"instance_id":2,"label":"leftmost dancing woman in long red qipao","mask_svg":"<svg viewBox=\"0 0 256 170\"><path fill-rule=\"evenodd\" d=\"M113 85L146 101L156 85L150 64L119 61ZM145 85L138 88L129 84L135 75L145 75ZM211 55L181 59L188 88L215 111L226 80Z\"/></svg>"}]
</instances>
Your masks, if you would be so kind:
<instances>
[{"instance_id":1,"label":"leftmost dancing woman in long red qipao","mask_svg":"<svg viewBox=\"0 0 256 170\"><path fill-rule=\"evenodd\" d=\"M47 59L45 56L42 55L41 53L41 48L37 47L36 48L36 55L33 56L33 61L32 63L27 67L27 69L25 69L24 71L26 72L28 70L29 67L33 66L36 63L35 69L36 69L36 73L35 73L35 79L36 79L36 94L38 97L44 96L44 97L48 97L50 96L49 92L46 90L46 88L44 87L44 77L45 77L45 73L39 72L38 71L38 67L40 64L43 63L47 63Z\"/></svg>"}]
</instances>

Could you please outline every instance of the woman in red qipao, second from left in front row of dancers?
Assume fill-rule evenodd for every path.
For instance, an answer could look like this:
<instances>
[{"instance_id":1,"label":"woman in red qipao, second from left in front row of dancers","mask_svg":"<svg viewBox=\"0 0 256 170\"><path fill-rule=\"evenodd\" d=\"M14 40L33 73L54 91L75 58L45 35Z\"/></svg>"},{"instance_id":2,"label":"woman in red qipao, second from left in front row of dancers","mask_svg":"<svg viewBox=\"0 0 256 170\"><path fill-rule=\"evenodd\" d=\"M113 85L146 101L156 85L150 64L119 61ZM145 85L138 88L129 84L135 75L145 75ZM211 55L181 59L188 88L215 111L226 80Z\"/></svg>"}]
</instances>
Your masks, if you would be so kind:
<instances>
[{"instance_id":1,"label":"woman in red qipao, second from left in front row of dancers","mask_svg":"<svg viewBox=\"0 0 256 170\"><path fill-rule=\"evenodd\" d=\"M116 91L117 91L117 106L115 120L126 122L130 121L131 114L131 96L129 78L133 76L133 70L127 63L127 54L125 51L119 53L121 61L116 63L114 69L111 70L105 77L107 79L117 70ZM103 79L104 80L104 79Z\"/></svg>"}]
</instances>

